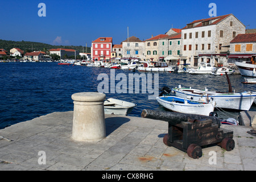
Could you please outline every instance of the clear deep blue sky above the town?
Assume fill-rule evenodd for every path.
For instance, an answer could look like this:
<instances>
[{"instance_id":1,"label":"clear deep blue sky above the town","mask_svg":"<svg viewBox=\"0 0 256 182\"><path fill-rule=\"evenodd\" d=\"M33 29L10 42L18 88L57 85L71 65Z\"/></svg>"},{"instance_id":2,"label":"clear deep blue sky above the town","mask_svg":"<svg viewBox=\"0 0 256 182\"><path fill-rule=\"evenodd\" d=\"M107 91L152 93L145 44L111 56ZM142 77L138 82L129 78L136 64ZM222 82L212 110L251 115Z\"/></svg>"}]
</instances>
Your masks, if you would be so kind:
<instances>
[{"instance_id":1,"label":"clear deep blue sky above the town","mask_svg":"<svg viewBox=\"0 0 256 182\"><path fill-rule=\"evenodd\" d=\"M46 5L46 17L38 16L39 3ZM234 14L247 28L256 28L255 0L2 0L0 39L91 46L109 36L120 44L129 27L129 36L146 40L209 18L210 3L216 3L217 16Z\"/></svg>"}]
</instances>

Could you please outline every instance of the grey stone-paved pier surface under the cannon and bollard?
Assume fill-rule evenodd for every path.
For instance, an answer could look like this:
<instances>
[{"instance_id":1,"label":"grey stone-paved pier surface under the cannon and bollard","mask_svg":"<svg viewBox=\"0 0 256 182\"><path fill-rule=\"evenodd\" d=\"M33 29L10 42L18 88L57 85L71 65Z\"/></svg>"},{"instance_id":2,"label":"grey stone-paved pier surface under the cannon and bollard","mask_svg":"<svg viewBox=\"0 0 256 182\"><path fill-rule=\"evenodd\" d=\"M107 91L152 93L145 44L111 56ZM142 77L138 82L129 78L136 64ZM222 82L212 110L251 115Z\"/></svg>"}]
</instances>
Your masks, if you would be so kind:
<instances>
[{"instance_id":1,"label":"grey stone-paved pier surface under the cannon and bollard","mask_svg":"<svg viewBox=\"0 0 256 182\"><path fill-rule=\"evenodd\" d=\"M234 150L210 146L192 159L163 143L168 122L105 115L106 137L91 143L72 139L72 120L73 111L56 112L0 130L11 140L0 140L1 171L256 170L256 137L246 133L251 127L222 125L234 131Z\"/></svg>"}]
</instances>

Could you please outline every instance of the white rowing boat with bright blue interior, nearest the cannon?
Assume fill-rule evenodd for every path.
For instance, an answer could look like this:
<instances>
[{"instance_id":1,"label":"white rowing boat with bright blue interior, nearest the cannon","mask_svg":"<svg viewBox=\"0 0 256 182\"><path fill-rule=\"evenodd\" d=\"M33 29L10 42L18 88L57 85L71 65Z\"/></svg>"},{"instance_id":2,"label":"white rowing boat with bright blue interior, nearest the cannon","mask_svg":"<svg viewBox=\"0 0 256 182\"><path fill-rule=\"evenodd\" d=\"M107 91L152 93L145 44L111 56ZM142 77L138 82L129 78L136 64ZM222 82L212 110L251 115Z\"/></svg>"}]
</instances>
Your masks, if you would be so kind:
<instances>
[{"instance_id":1,"label":"white rowing boat with bright blue interior, nearest the cannon","mask_svg":"<svg viewBox=\"0 0 256 182\"><path fill-rule=\"evenodd\" d=\"M166 107L167 109L177 113L185 114L209 115L214 111L215 106L214 101L205 104L204 102L193 101L174 96L156 97L156 101L158 101L160 105Z\"/></svg>"}]
</instances>

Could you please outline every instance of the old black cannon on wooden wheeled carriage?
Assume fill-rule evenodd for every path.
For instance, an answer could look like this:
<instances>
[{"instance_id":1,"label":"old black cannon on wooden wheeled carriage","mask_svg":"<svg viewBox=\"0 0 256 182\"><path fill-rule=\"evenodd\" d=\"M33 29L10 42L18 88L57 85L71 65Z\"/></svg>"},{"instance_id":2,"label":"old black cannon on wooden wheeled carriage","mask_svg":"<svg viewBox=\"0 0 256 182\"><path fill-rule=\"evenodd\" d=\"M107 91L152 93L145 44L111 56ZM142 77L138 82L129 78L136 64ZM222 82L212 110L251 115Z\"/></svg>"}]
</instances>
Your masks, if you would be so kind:
<instances>
[{"instance_id":1,"label":"old black cannon on wooden wheeled carriage","mask_svg":"<svg viewBox=\"0 0 256 182\"><path fill-rule=\"evenodd\" d=\"M163 138L164 144L187 152L193 159L202 156L202 146L218 144L226 151L235 146L233 131L220 129L220 120L216 117L158 110L143 110L141 116L167 121L168 134Z\"/></svg>"}]
</instances>

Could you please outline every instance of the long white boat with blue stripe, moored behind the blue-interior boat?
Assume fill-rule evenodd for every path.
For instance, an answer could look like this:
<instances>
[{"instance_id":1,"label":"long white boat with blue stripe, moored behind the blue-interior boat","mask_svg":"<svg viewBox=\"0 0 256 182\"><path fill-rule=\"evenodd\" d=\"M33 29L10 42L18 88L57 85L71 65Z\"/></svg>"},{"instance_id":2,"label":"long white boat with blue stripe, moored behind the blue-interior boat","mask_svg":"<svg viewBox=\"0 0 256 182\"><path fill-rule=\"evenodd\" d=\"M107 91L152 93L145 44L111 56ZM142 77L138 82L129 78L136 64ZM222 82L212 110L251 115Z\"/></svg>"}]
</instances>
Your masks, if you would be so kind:
<instances>
[{"instance_id":1,"label":"long white boat with blue stripe, moored behind the blue-interior boat","mask_svg":"<svg viewBox=\"0 0 256 182\"><path fill-rule=\"evenodd\" d=\"M249 110L256 98L256 93L221 93L210 92L207 89L198 90L191 88L174 88L172 92L177 97L189 98L195 101L208 102L215 101L216 107L224 109Z\"/></svg>"}]
</instances>

